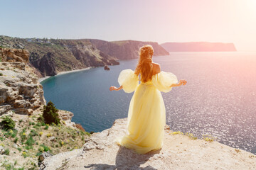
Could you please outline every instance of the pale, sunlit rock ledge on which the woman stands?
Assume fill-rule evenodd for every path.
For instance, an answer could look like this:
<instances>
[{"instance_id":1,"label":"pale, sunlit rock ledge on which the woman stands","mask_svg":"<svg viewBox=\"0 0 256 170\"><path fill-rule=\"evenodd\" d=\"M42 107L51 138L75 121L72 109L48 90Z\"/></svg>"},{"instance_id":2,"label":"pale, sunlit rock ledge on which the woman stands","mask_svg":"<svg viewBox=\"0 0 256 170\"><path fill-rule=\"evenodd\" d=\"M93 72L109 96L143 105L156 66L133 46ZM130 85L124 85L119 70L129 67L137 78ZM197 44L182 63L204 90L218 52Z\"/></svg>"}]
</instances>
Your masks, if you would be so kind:
<instances>
[{"instance_id":1,"label":"pale, sunlit rock ledge on which the woman stands","mask_svg":"<svg viewBox=\"0 0 256 170\"><path fill-rule=\"evenodd\" d=\"M173 135L166 126L164 146L147 154L114 143L125 133L127 118L92 134L82 149L46 158L41 169L256 169L256 156L219 142Z\"/></svg>"}]
</instances>

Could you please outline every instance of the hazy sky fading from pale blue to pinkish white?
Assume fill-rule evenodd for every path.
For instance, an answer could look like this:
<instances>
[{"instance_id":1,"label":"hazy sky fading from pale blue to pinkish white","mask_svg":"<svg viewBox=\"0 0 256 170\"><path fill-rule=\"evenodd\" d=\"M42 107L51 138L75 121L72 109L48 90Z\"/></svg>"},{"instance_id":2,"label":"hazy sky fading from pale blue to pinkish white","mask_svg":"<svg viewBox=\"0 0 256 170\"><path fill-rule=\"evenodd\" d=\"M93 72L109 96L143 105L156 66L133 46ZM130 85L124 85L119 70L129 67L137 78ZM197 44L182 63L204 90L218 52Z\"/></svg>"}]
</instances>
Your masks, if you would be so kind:
<instances>
[{"instance_id":1,"label":"hazy sky fading from pale blue to pinkish white","mask_svg":"<svg viewBox=\"0 0 256 170\"><path fill-rule=\"evenodd\" d=\"M256 0L0 0L0 35L234 42L256 51Z\"/></svg>"}]
</instances>

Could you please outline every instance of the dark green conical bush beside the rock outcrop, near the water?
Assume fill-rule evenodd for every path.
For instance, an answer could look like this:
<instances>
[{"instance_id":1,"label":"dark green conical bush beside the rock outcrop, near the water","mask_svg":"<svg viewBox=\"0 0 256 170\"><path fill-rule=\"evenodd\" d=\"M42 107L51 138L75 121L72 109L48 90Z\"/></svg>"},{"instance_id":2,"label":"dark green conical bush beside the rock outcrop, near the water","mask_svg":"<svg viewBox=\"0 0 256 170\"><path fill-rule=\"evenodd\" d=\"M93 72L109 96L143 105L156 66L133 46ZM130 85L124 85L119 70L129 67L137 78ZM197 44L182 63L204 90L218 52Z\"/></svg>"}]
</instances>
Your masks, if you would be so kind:
<instances>
[{"instance_id":1,"label":"dark green conical bush beside the rock outcrop, near the water","mask_svg":"<svg viewBox=\"0 0 256 170\"><path fill-rule=\"evenodd\" d=\"M60 124L58 109L55 108L51 101L47 103L47 106L43 106L43 118L45 123L55 123L56 125Z\"/></svg>"}]
</instances>

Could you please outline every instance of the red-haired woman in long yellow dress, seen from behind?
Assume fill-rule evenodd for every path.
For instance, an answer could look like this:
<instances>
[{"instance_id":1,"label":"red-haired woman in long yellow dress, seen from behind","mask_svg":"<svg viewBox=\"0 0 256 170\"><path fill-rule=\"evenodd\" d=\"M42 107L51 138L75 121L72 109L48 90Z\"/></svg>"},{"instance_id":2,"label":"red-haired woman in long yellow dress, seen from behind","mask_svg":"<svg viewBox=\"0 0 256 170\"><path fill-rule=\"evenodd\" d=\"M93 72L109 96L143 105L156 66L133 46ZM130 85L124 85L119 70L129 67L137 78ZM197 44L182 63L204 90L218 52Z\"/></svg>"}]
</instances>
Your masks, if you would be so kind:
<instances>
[{"instance_id":1,"label":"red-haired woman in long yellow dress, seen from behind","mask_svg":"<svg viewBox=\"0 0 256 170\"><path fill-rule=\"evenodd\" d=\"M139 154L161 149L163 145L166 110L160 91L169 92L175 86L186 84L185 80L178 83L177 77L170 72L161 72L160 65L152 62L153 53L151 45L141 47L135 71L122 70L118 77L119 88L110 87L110 91L134 91L129 104L127 134L117 137L115 142Z\"/></svg>"}]
</instances>

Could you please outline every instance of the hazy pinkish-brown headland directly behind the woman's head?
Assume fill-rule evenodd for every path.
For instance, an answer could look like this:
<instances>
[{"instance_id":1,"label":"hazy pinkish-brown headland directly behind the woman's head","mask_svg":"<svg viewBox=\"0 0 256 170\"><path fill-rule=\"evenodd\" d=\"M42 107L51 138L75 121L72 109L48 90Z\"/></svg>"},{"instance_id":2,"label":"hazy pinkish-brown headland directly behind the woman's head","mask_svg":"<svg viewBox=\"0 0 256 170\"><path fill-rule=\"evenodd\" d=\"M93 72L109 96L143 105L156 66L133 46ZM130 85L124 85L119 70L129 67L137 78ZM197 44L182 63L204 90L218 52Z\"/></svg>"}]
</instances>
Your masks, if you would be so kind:
<instances>
[{"instance_id":1,"label":"hazy pinkish-brown headland directly behind the woman's head","mask_svg":"<svg viewBox=\"0 0 256 170\"><path fill-rule=\"evenodd\" d=\"M107 55L117 57L120 60L128 60L138 58L139 47L143 45L152 45L154 48L154 56L169 55L157 42L143 42L134 40L122 41L104 41L90 40L90 42Z\"/></svg>"}]
</instances>

